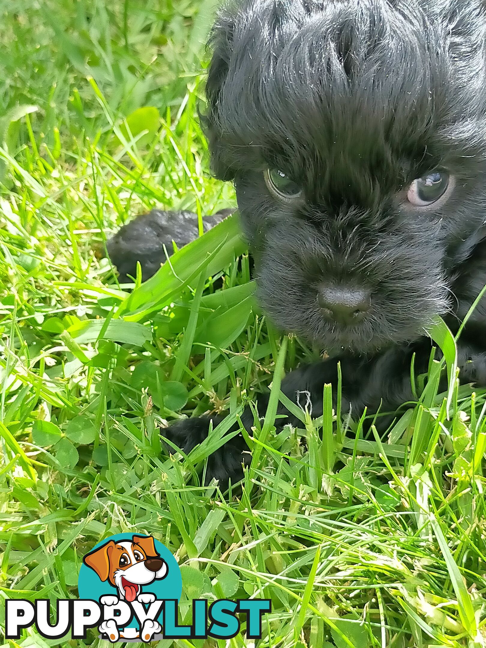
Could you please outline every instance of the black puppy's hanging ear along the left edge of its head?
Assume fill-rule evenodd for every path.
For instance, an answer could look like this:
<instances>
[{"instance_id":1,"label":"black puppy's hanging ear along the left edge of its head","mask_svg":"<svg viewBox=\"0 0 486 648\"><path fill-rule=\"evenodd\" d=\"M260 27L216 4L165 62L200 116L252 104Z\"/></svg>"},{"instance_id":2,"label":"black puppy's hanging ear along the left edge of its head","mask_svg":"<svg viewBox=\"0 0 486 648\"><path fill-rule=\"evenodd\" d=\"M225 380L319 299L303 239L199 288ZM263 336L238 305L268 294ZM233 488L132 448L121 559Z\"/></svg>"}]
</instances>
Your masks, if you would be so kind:
<instances>
[{"instance_id":1,"label":"black puppy's hanging ear along the left edge of its head","mask_svg":"<svg viewBox=\"0 0 486 648\"><path fill-rule=\"evenodd\" d=\"M200 115L211 152L211 168L214 176L220 180L232 180L235 177L222 146L220 127L220 97L228 75L229 57L233 47L233 29L233 19L220 14L208 43L213 50L213 56L206 82L207 112L205 115Z\"/></svg>"}]
</instances>

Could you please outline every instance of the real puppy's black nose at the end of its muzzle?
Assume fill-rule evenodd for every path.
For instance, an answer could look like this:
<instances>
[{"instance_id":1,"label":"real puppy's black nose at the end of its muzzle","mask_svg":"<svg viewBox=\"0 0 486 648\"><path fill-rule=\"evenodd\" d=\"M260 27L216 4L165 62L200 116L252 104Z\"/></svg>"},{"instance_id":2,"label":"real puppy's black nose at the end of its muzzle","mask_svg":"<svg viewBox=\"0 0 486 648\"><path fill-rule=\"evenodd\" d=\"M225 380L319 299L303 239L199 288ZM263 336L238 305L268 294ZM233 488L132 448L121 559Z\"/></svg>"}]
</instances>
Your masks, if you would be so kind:
<instances>
[{"instance_id":1,"label":"real puppy's black nose at the end of its muzzle","mask_svg":"<svg viewBox=\"0 0 486 648\"><path fill-rule=\"evenodd\" d=\"M357 324L362 321L371 305L371 292L365 288L321 284L318 303L325 316L340 324Z\"/></svg>"}]
</instances>

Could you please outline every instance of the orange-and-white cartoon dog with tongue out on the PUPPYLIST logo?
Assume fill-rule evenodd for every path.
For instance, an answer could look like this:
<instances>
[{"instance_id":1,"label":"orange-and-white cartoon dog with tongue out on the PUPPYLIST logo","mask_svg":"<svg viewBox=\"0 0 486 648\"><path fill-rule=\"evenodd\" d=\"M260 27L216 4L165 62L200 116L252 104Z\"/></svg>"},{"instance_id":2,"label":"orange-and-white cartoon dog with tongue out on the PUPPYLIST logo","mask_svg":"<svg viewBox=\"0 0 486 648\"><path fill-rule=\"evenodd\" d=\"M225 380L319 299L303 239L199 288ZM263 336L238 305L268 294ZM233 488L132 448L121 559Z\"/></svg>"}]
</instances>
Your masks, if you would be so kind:
<instances>
[{"instance_id":1,"label":"orange-and-white cartoon dog with tongue out on the PUPPYLIST logo","mask_svg":"<svg viewBox=\"0 0 486 648\"><path fill-rule=\"evenodd\" d=\"M157 553L152 536L133 535L132 540L109 540L97 549L90 551L83 558L84 564L97 573L101 581L108 581L118 596L103 596L103 605L117 605L119 600L139 603L152 603L154 594L142 592L142 587L167 576L167 562ZM150 626L150 627L149 627ZM133 629L118 632L113 620L105 621L99 627L100 632L108 634L110 640L118 641L137 638L139 633ZM161 631L157 621L146 619L141 630L143 640L148 641Z\"/></svg>"}]
</instances>

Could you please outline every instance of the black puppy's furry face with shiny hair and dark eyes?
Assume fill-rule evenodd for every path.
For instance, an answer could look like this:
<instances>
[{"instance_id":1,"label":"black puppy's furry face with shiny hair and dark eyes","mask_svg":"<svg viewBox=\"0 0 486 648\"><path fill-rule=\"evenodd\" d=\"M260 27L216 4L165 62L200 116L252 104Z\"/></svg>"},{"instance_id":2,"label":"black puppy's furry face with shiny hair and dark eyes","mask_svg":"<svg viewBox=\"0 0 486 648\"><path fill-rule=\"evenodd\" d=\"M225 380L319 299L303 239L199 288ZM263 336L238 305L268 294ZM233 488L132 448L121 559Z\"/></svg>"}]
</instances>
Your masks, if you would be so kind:
<instances>
[{"instance_id":1,"label":"black puppy's furry face with shiny hair and dark eyes","mask_svg":"<svg viewBox=\"0 0 486 648\"><path fill-rule=\"evenodd\" d=\"M412 340L483 234L480 0L246 0L207 84L262 305L330 352Z\"/></svg>"}]
</instances>

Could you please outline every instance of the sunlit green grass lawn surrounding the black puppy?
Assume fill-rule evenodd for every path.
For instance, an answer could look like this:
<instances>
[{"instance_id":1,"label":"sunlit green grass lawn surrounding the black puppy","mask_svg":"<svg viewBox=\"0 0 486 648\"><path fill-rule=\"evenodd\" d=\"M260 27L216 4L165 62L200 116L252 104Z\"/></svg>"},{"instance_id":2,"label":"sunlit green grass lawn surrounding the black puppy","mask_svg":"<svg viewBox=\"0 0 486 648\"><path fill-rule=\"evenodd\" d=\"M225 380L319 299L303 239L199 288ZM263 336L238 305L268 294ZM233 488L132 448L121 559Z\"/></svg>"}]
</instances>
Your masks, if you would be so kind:
<instances>
[{"instance_id":1,"label":"sunlit green grass lawn surrounding the black puppy","mask_svg":"<svg viewBox=\"0 0 486 648\"><path fill-rule=\"evenodd\" d=\"M133 530L178 558L181 621L193 597L270 597L260 647L485 646L486 393L457 387L452 336L437 325L448 393L431 364L382 438L329 406L274 434L282 373L312 352L262 317L235 220L131 293L100 258L141 211L234 204L196 117L209 5L2 6L1 614L7 597L75 597L84 553ZM242 492L202 487L270 384ZM161 452L167 421L213 410L229 418L189 457Z\"/></svg>"}]
</instances>

